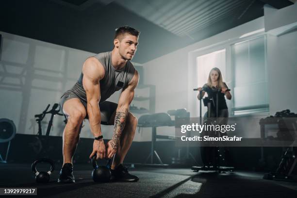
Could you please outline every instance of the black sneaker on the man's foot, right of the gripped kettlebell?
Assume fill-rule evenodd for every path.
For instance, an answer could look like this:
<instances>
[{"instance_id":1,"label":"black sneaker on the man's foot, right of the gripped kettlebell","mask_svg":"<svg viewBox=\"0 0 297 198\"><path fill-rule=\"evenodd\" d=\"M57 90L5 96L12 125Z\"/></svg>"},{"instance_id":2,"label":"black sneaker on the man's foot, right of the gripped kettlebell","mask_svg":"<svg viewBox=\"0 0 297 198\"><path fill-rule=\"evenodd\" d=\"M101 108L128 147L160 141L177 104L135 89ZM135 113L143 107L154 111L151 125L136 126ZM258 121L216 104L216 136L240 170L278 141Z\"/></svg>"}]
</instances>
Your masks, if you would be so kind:
<instances>
[{"instance_id":1,"label":"black sneaker on the man's foot, right of the gripped kettlebell","mask_svg":"<svg viewBox=\"0 0 297 198\"><path fill-rule=\"evenodd\" d=\"M118 165L115 170L111 170L111 181L138 181L139 178L131 175L128 169L122 164Z\"/></svg>"}]
</instances>

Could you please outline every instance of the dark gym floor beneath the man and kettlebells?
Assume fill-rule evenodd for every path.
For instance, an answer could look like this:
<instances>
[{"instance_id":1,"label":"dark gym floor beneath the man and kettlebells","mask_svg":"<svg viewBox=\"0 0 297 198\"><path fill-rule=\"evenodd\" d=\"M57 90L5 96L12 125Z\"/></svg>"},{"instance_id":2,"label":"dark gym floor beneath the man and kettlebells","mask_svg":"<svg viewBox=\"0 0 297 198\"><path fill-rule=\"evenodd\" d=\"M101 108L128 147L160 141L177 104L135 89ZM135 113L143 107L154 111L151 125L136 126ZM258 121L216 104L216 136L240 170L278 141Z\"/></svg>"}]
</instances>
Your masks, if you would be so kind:
<instances>
[{"instance_id":1,"label":"dark gym floor beneath the man and kettlebells","mask_svg":"<svg viewBox=\"0 0 297 198\"><path fill-rule=\"evenodd\" d=\"M0 164L0 187L37 187L37 196L48 198L297 198L297 185L263 180L264 173L234 171L193 172L190 168L129 168L140 180L134 183L95 183L91 165L75 165L76 183L57 183L58 169L50 182L34 181L30 164ZM40 165L39 171L47 169ZM27 197L27 196L26 196Z\"/></svg>"}]
</instances>

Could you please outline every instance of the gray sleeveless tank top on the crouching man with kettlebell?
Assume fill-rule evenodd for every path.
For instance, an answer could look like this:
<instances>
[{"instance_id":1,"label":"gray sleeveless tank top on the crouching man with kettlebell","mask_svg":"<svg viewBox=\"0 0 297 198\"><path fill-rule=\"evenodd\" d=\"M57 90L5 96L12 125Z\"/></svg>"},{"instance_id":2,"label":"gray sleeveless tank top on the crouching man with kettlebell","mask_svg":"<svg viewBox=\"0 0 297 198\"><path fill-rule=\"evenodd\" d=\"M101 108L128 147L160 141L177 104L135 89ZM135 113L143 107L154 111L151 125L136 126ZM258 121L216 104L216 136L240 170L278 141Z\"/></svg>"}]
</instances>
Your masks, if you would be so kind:
<instances>
[{"instance_id":1,"label":"gray sleeveless tank top on the crouching man with kettlebell","mask_svg":"<svg viewBox=\"0 0 297 198\"><path fill-rule=\"evenodd\" d=\"M123 68L121 68L120 70L116 70L115 67L112 65L111 51L99 53L94 57L99 60L99 62L105 69L105 75L103 79L99 81L101 95L99 103L101 103L108 99L113 93L115 93L115 91L128 86L128 83L131 82L134 76L135 68L130 61L127 61L126 65ZM81 73L79 80L69 91L74 92L80 97L80 99L86 102L87 99L85 90L83 89L82 85L82 78L83 74Z\"/></svg>"}]
</instances>

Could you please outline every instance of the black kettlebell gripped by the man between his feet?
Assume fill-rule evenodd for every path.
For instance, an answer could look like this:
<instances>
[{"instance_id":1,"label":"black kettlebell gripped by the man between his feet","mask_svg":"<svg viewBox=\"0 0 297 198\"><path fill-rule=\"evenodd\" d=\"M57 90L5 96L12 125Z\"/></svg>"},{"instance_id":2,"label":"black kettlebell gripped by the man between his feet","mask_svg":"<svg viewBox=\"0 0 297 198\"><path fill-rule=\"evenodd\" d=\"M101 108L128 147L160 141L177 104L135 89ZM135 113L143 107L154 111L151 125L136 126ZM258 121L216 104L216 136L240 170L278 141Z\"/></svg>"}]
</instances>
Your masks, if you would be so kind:
<instances>
[{"instance_id":1,"label":"black kettlebell gripped by the man between his feet","mask_svg":"<svg viewBox=\"0 0 297 198\"><path fill-rule=\"evenodd\" d=\"M97 155L93 155L92 157L92 165L93 165L93 172L92 172L92 178L95 182L109 182L110 181L110 162L111 160L109 159L107 161L107 165L98 165L97 164Z\"/></svg>"}]
</instances>

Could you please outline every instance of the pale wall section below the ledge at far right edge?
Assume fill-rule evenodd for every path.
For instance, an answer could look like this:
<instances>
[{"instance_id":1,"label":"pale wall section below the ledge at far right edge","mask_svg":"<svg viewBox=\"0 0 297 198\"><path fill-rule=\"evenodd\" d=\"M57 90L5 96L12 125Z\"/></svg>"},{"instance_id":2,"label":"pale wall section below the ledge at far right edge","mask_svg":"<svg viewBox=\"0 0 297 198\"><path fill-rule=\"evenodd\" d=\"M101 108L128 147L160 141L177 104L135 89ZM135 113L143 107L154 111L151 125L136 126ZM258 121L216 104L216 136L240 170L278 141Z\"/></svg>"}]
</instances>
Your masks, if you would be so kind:
<instances>
[{"instance_id":1,"label":"pale wall section below the ledge at far right edge","mask_svg":"<svg viewBox=\"0 0 297 198\"><path fill-rule=\"evenodd\" d=\"M270 114L284 109L297 113L297 31L268 35L267 65Z\"/></svg>"}]
</instances>

